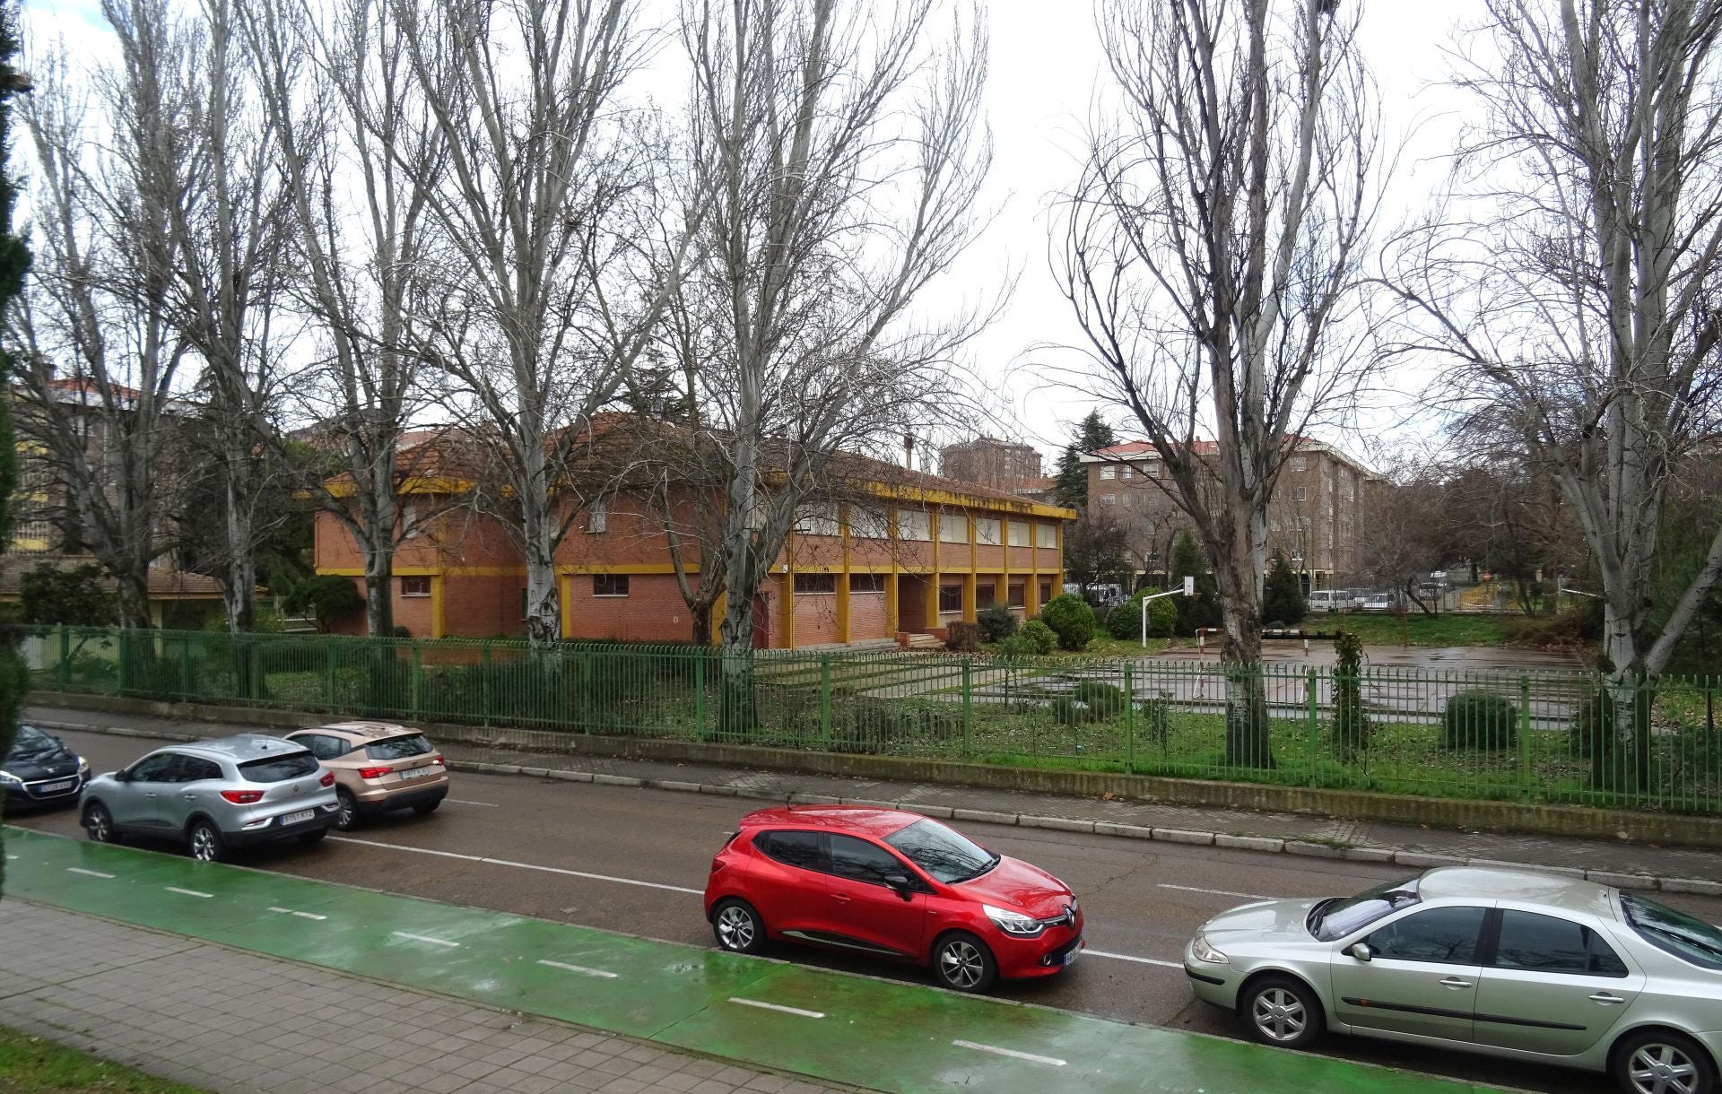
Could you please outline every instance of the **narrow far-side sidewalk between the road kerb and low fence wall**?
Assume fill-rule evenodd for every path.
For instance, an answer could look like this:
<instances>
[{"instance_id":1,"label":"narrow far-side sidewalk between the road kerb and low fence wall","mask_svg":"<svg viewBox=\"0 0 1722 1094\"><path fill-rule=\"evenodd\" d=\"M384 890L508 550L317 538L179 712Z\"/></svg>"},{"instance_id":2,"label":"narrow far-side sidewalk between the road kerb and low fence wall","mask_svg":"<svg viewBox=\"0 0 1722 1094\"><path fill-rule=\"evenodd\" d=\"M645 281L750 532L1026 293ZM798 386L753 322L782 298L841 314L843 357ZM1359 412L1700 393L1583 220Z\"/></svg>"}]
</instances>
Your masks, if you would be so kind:
<instances>
[{"instance_id":1,"label":"narrow far-side sidewalk between the road kerb and low fence wall","mask_svg":"<svg viewBox=\"0 0 1722 1094\"><path fill-rule=\"evenodd\" d=\"M96 710L33 706L24 720L40 725L93 732L126 732L164 739L188 739L257 732L257 725L238 722L191 722L145 715L117 715ZM313 724L315 715L307 715ZM279 732L279 730L263 730ZM959 787L933 782L885 782L844 779L797 772L670 763L658 760L622 760L611 756L532 753L437 743L456 767L468 770L515 770L542 777L546 772L577 772L599 780L644 782L661 789L728 793L771 801L859 799L918 808L957 820L992 820L1031 825L1042 818L1068 822L1107 834L1149 836L1178 842L1221 842L1245 849L1298 853L1310 856L1384 861L1398 856L1409 867L1434 867L1462 861L1526 863L1586 870L1596 880L1624 887L1667 889L1722 896L1722 855L1691 848L1660 848L1634 842L1591 839L1557 839L1548 836L1510 836L1495 832L1441 830L1431 827L1355 822L1304 813L1262 813L1219 810L1154 801L1102 801L1062 794L1031 794ZM489 765L489 767L480 767ZM501 767L496 767L501 765ZM1068 827L1049 825L1049 827ZM1672 879L1672 880L1670 880Z\"/></svg>"}]
</instances>

